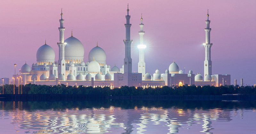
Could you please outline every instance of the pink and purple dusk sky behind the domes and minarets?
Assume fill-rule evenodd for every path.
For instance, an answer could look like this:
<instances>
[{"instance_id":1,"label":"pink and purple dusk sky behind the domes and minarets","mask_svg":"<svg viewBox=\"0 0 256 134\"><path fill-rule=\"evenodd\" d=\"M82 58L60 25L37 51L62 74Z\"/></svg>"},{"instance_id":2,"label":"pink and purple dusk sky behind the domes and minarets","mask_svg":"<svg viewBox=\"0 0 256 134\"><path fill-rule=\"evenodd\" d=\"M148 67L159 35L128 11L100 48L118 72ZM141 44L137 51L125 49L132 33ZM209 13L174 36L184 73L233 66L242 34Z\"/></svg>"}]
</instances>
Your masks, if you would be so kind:
<instances>
[{"instance_id":1,"label":"pink and purple dusk sky behind the domes and minarets","mask_svg":"<svg viewBox=\"0 0 256 134\"><path fill-rule=\"evenodd\" d=\"M205 20L211 20L212 74L230 74L256 84L255 0L8 0L0 4L0 78L11 78L27 62L36 63L37 49L46 43L58 61L60 10L65 39L73 36L84 45L84 62L96 46L103 48L107 64L124 63L125 15L131 15L132 71L139 61L140 16L143 14L146 72L165 73L175 60L184 73L204 73Z\"/></svg>"}]
</instances>

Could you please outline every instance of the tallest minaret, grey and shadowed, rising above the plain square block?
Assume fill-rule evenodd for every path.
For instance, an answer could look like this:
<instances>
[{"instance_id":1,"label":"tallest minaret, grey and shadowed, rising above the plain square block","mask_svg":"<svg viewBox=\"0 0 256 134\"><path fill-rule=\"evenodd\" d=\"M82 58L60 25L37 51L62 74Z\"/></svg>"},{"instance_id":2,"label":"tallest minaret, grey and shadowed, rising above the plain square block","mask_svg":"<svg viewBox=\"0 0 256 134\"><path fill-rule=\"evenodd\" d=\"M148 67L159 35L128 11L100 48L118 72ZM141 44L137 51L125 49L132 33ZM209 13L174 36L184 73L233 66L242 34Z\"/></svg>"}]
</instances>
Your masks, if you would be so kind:
<instances>
[{"instance_id":1,"label":"tallest minaret, grey and shadowed, rising above the plain square block","mask_svg":"<svg viewBox=\"0 0 256 134\"><path fill-rule=\"evenodd\" d=\"M124 26L125 26L124 73L132 73L132 58L131 58L131 44L132 44L132 40L130 38L130 28L131 28L132 24L130 24L131 16L129 15L129 4L127 5L127 15L125 16L125 18L126 18L126 24L124 24Z\"/></svg>"}]
</instances>

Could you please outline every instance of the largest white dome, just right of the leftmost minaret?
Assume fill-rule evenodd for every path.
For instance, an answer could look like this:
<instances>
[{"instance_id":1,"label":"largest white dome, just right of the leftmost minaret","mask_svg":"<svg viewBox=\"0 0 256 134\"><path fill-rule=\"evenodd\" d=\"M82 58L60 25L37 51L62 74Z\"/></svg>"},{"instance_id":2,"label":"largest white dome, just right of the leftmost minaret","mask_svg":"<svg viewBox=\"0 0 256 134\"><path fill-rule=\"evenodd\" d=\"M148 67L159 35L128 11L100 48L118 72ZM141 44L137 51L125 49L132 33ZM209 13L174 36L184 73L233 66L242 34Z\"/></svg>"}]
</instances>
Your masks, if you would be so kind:
<instances>
[{"instance_id":1,"label":"largest white dome, just right of the leftmost minaret","mask_svg":"<svg viewBox=\"0 0 256 134\"><path fill-rule=\"evenodd\" d=\"M81 41L71 36L64 42L67 43L65 46L65 59L66 60L81 60L84 59L84 46Z\"/></svg>"}]
</instances>

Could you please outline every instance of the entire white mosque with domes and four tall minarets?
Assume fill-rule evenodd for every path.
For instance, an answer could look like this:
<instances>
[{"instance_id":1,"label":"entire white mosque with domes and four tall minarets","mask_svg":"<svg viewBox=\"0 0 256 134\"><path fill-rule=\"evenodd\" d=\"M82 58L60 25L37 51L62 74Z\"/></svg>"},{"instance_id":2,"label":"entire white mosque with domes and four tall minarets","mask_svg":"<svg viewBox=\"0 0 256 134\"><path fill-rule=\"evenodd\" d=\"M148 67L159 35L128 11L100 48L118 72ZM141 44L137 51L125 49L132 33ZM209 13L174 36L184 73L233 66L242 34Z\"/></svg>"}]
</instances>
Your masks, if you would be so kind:
<instances>
[{"instance_id":1,"label":"entire white mosque with domes and four tall minarets","mask_svg":"<svg viewBox=\"0 0 256 134\"><path fill-rule=\"evenodd\" d=\"M106 63L106 53L96 45L88 54L88 61L84 61L84 45L81 41L73 36L64 40L64 19L61 10L60 14L60 41L57 43L59 47L59 59L55 61L55 52L51 46L46 44L38 48L36 52L36 63L30 67L25 63L21 69L20 76L23 78L23 83L37 84L37 85L71 85L71 86L109 86L111 89L121 86L135 86L135 87L162 87L162 86L183 86L183 85L196 85L196 86L221 86L230 85L230 75L212 74L212 61L211 61L211 47L210 43L210 20L207 11L207 20L205 34L205 60L204 60L204 74L193 74L190 70L188 73L180 70L179 65L173 61L169 68L166 67L165 73L159 73L156 70L153 75L146 72L146 63L144 61L144 24L142 14L140 23L140 45L139 49L139 63L138 72L132 72L132 58L131 58L131 44L130 39L130 23L131 16L129 15L129 6L127 6L127 15L125 30L125 57L122 68L116 65L111 68ZM14 75L13 75L14 76Z\"/></svg>"}]
</instances>

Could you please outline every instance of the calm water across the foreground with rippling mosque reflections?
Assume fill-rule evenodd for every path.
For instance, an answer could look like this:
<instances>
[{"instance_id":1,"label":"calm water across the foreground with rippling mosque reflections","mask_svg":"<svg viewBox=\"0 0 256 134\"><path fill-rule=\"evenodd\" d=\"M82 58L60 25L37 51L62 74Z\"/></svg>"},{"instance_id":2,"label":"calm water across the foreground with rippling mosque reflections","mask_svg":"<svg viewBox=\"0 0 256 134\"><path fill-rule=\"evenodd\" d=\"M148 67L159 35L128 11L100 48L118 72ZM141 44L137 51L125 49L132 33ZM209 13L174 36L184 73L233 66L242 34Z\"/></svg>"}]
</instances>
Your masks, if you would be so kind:
<instances>
[{"instance_id":1,"label":"calm water across the foreground with rippling mosque reflections","mask_svg":"<svg viewBox=\"0 0 256 134\"><path fill-rule=\"evenodd\" d=\"M0 101L0 133L255 134L256 101Z\"/></svg>"}]
</instances>

